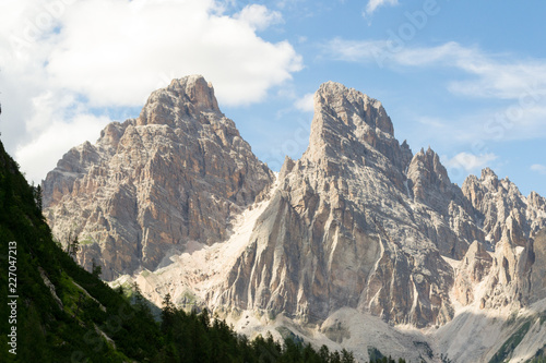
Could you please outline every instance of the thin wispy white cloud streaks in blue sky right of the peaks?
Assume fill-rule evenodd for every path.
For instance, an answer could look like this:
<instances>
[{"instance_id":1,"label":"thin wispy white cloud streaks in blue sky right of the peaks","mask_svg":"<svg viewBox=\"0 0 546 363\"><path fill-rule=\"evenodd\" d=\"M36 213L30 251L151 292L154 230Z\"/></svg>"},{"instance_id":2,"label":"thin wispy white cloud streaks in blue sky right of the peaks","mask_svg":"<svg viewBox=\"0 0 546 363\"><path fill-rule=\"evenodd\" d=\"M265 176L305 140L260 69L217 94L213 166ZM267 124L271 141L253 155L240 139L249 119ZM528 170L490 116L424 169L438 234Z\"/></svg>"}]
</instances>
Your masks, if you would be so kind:
<instances>
[{"instance_id":1,"label":"thin wispy white cloud streaks in blue sky right of the peaks","mask_svg":"<svg viewBox=\"0 0 546 363\"><path fill-rule=\"evenodd\" d=\"M453 41L437 47L410 47L394 38L334 38L324 45L323 53L339 61L375 63L400 72L407 68L456 71L451 72L453 76L447 81L451 94L505 102L497 110L446 120L443 126L426 130L430 134L448 135L448 142L546 136L546 59L521 60L510 55L490 55Z\"/></svg>"}]
</instances>

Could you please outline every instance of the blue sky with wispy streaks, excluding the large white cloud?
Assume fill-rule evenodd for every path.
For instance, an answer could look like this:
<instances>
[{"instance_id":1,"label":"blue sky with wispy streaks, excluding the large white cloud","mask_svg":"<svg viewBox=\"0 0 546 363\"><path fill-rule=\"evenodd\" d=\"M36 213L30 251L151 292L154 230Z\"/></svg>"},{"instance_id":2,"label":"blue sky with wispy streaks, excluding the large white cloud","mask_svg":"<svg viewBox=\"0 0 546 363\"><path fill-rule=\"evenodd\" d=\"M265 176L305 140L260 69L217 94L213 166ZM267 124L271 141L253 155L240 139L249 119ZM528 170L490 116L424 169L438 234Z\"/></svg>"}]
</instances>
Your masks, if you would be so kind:
<instances>
[{"instance_id":1,"label":"blue sky with wispy streaks, excluding the large white cloud","mask_svg":"<svg viewBox=\"0 0 546 363\"><path fill-rule=\"evenodd\" d=\"M432 11L427 8L431 14L424 17L427 5ZM305 68L294 73L296 94L311 94L324 81L341 82L381 100L396 137L407 140L414 153L428 146L435 149L453 182L461 185L468 173L479 176L488 166L500 178L514 181L525 195L531 190L546 194L546 47L541 46L546 44L546 3L401 1L366 16L365 4L356 1L316 7L297 1L287 8L285 22L261 35L286 38L302 55ZM400 43L395 52L366 55L390 39ZM443 59L427 62L442 47ZM410 61L410 57L417 59ZM473 62L490 70L465 69ZM497 70L499 76L521 76L522 83L536 76L536 84L529 84L529 94L515 81L488 84ZM258 105L225 110L244 136L259 140L251 145L258 155L273 160L272 166L278 164L283 144L285 152L295 149L293 140L298 137L292 135L290 125L301 128L310 117L283 111L280 98L272 96L271 107L261 110ZM278 125L273 132L285 140L281 147L268 142L270 130L252 130L256 118ZM290 156L298 157L306 146L302 143Z\"/></svg>"}]
</instances>

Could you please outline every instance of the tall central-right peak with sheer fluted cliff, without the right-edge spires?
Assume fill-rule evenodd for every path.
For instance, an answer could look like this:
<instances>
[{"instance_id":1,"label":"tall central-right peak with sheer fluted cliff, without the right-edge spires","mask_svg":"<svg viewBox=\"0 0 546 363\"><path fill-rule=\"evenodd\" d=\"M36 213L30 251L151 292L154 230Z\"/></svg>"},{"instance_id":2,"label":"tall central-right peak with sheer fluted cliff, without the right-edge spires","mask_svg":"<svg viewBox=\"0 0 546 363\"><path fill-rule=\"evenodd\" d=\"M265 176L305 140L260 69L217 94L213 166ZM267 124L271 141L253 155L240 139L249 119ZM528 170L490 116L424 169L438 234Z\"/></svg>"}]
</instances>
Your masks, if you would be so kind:
<instances>
[{"instance_id":1,"label":"tall central-right peak with sheer fluted cliff, without the right-edge spires","mask_svg":"<svg viewBox=\"0 0 546 363\"><path fill-rule=\"evenodd\" d=\"M448 322L453 273L415 209L443 217L407 195L411 160L379 101L323 84L309 148L285 161L218 304L313 322L344 306L392 323Z\"/></svg>"}]
</instances>

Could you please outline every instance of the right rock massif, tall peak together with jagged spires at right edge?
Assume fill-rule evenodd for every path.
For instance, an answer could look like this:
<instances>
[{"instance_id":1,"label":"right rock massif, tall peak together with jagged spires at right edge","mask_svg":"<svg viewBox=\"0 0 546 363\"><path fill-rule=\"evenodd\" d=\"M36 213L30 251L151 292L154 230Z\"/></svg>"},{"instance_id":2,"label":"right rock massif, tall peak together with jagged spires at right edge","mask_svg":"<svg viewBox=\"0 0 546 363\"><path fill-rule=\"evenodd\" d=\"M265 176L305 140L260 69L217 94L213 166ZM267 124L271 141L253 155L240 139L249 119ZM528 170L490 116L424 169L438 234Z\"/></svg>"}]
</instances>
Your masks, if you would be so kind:
<instances>
[{"instance_id":1,"label":"right rock massif, tall peak together with jagged spires at right edge","mask_svg":"<svg viewBox=\"0 0 546 363\"><path fill-rule=\"evenodd\" d=\"M544 226L544 198L484 173L461 190L430 148L413 156L399 144L379 101L325 83L309 147L285 160L214 305L307 322L352 307L417 327L452 318L452 289L463 305L524 306L536 300L530 238Z\"/></svg>"}]
</instances>

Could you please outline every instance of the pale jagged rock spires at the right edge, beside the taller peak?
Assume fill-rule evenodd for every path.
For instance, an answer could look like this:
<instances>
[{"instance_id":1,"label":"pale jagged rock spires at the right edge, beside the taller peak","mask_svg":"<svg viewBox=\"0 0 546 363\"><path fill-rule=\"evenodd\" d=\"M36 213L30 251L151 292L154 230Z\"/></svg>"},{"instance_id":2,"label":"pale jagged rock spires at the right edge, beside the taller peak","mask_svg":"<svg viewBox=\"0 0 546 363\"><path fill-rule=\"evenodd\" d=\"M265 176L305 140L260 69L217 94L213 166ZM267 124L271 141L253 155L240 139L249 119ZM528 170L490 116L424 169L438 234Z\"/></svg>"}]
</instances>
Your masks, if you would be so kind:
<instances>
[{"instance_id":1,"label":"pale jagged rock spires at the right edge, beside the taller peak","mask_svg":"<svg viewBox=\"0 0 546 363\"><path fill-rule=\"evenodd\" d=\"M490 169L479 179L468 177L463 193L485 237L462 259L455 278L458 300L464 305L478 301L482 308L518 308L544 299L545 198L534 192L523 196L508 178L499 180Z\"/></svg>"}]
</instances>

